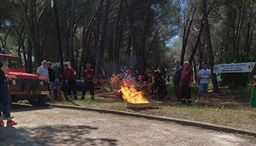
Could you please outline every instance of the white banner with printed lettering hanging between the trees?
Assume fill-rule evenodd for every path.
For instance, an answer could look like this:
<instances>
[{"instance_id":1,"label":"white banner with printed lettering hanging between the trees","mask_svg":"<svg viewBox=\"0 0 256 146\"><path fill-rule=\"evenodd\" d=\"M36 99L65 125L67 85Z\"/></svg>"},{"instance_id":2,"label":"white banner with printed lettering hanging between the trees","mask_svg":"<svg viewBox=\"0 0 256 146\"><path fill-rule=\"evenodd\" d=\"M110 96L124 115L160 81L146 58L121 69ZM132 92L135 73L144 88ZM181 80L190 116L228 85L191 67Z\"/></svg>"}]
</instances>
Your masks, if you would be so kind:
<instances>
[{"instance_id":1,"label":"white banner with printed lettering hanging between the trees","mask_svg":"<svg viewBox=\"0 0 256 146\"><path fill-rule=\"evenodd\" d=\"M214 73L252 72L255 62L214 65Z\"/></svg>"}]
</instances>

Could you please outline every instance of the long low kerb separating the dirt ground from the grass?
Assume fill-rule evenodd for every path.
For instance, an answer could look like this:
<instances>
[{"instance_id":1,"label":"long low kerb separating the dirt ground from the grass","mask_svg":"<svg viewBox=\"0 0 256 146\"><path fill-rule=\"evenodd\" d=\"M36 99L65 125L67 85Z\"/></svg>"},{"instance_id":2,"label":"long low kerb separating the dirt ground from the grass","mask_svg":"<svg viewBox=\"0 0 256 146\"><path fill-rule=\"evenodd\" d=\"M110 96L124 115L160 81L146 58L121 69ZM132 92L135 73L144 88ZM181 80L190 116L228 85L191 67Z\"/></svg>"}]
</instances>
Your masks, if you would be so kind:
<instances>
[{"instance_id":1,"label":"long low kerb separating the dirt ground from the grass","mask_svg":"<svg viewBox=\"0 0 256 146\"><path fill-rule=\"evenodd\" d=\"M94 112L103 112L103 113L109 113L109 114L115 114L115 115L125 115L125 116L131 116L136 118L146 118L149 120L162 120L162 121L168 121L173 123L179 123L184 126L197 126L200 128L215 130L215 131L223 131L226 133L235 133L235 134L248 134L250 136L256 137L256 131L249 131L241 128L232 128L229 126L219 126L215 124L210 123L201 123L196 122L192 120L184 120L184 119L178 119L178 118L166 118L166 117L159 117L155 115L144 115L144 114L138 114L138 113L132 113L132 112L123 112L123 111L117 111L117 110L104 110L104 109L98 109L93 107L78 107L78 106L69 106L69 105L61 105L61 104L48 104L52 107L57 108L65 108L65 109L74 109L74 110L87 110L87 111L94 111Z\"/></svg>"}]
</instances>

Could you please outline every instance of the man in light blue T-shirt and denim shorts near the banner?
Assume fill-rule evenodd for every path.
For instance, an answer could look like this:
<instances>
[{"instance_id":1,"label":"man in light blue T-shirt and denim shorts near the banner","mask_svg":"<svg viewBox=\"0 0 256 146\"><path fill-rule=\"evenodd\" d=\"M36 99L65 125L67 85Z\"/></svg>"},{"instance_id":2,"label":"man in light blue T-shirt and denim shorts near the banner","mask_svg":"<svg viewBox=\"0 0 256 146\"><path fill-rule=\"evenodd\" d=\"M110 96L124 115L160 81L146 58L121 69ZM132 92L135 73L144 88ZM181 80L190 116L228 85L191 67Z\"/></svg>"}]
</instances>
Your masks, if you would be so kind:
<instances>
[{"instance_id":1,"label":"man in light blue T-shirt and denim shorts near the banner","mask_svg":"<svg viewBox=\"0 0 256 146\"><path fill-rule=\"evenodd\" d=\"M200 99L200 94L203 94L203 103L207 104L206 102L206 93L208 93L208 85L209 80L211 79L211 72L208 70L208 64L203 64L203 69L201 69L197 74L197 79L200 79L200 86L199 86L199 92L197 95L197 100L195 102L198 102Z\"/></svg>"}]
</instances>

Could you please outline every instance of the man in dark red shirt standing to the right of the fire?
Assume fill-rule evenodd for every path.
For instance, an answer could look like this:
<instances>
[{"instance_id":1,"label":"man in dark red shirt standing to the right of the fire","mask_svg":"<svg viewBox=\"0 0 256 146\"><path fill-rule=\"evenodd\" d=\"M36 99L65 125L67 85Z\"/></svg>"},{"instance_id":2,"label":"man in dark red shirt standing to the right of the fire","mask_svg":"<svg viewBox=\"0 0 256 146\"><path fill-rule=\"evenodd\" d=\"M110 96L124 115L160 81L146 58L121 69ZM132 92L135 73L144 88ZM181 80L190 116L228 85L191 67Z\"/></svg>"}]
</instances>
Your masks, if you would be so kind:
<instances>
[{"instance_id":1,"label":"man in dark red shirt standing to the right of the fire","mask_svg":"<svg viewBox=\"0 0 256 146\"><path fill-rule=\"evenodd\" d=\"M181 101L183 104L191 105L191 83L193 80L193 70L189 67L189 61L184 62L184 69L181 74Z\"/></svg>"}]
</instances>

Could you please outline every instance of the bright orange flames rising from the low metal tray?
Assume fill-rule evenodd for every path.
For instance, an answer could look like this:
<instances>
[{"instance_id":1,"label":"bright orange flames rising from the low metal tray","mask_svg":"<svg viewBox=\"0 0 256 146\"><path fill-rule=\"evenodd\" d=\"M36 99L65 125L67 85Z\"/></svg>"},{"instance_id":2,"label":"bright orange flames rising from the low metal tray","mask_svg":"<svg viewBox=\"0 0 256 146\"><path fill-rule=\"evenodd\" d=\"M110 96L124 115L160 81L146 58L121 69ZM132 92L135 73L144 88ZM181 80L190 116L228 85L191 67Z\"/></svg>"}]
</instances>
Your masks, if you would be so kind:
<instances>
[{"instance_id":1,"label":"bright orange flames rising from the low metal tray","mask_svg":"<svg viewBox=\"0 0 256 146\"><path fill-rule=\"evenodd\" d=\"M149 103L148 99L143 98L141 92L136 91L135 85L128 85L124 82L121 85L121 89L118 90L118 93L122 93L122 97L125 101L141 104L141 103Z\"/></svg>"}]
</instances>

